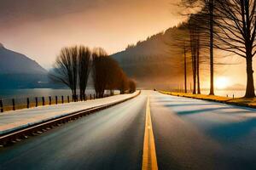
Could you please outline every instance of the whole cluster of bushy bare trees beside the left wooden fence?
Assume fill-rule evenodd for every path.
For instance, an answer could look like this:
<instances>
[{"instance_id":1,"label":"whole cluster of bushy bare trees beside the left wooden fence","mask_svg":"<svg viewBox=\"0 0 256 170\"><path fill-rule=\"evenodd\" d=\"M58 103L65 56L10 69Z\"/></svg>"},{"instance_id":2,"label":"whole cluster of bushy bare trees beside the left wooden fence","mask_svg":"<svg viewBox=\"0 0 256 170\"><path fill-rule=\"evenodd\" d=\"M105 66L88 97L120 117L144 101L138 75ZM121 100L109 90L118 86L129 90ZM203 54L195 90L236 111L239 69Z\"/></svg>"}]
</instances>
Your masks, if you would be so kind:
<instances>
[{"instance_id":1,"label":"whole cluster of bushy bare trees beside the left wooden fence","mask_svg":"<svg viewBox=\"0 0 256 170\"><path fill-rule=\"evenodd\" d=\"M103 48L91 50L82 45L62 48L49 72L53 82L65 84L71 89L73 100L77 100L77 89L80 99L85 99L89 77L98 98L102 98L106 90L111 94L114 90L119 90L120 94L136 91L136 82L125 75Z\"/></svg>"}]
</instances>

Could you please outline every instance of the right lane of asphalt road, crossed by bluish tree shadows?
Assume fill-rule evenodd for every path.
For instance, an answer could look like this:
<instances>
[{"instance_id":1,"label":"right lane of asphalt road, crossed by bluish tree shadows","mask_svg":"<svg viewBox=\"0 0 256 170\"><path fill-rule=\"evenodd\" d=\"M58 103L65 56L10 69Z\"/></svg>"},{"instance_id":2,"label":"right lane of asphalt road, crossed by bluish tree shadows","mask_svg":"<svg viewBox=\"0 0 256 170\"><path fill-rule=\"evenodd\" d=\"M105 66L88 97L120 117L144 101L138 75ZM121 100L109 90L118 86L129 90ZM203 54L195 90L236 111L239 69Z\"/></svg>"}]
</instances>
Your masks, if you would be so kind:
<instances>
[{"instance_id":1,"label":"right lane of asphalt road, crossed by bluish tree shadows","mask_svg":"<svg viewBox=\"0 0 256 170\"><path fill-rule=\"evenodd\" d=\"M151 94L159 169L256 169L256 110Z\"/></svg>"}]
</instances>

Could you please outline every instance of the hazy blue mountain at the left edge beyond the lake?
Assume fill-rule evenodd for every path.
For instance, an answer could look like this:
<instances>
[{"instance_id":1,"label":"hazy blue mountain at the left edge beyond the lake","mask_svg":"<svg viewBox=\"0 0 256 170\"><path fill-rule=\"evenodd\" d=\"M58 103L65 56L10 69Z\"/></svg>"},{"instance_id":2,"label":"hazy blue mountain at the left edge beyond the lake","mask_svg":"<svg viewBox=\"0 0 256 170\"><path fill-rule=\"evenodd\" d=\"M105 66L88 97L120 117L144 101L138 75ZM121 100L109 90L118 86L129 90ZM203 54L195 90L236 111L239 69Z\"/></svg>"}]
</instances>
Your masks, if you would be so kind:
<instances>
[{"instance_id":1,"label":"hazy blue mountain at the left edge beyond the lake","mask_svg":"<svg viewBox=\"0 0 256 170\"><path fill-rule=\"evenodd\" d=\"M0 43L0 88L46 88L47 71L24 54Z\"/></svg>"}]
</instances>

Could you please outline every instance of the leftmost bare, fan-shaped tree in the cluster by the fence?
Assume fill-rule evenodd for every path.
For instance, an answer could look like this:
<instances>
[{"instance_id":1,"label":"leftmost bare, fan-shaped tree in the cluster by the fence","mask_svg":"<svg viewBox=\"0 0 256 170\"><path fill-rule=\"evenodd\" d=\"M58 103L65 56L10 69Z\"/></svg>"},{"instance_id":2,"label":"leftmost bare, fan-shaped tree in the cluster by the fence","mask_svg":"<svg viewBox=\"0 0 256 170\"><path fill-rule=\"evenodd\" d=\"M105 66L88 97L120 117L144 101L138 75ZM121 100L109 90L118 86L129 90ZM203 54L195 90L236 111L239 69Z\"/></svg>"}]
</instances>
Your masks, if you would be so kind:
<instances>
[{"instance_id":1,"label":"leftmost bare, fan-shaped tree in the cluster by the fence","mask_svg":"<svg viewBox=\"0 0 256 170\"><path fill-rule=\"evenodd\" d=\"M78 76L78 48L62 48L57 56L53 70L49 73L49 78L54 82L61 82L72 90L73 99L77 96L77 76Z\"/></svg>"}]
</instances>

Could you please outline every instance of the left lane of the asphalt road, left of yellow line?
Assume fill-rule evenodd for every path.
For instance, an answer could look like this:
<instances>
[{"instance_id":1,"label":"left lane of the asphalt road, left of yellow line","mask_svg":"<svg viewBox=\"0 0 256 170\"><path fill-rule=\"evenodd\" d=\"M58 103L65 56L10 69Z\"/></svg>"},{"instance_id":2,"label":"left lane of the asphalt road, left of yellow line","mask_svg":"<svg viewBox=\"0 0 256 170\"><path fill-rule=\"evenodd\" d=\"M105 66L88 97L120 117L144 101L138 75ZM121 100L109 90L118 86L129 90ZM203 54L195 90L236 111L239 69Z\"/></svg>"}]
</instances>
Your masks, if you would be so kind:
<instances>
[{"instance_id":1,"label":"left lane of the asphalt road, left of yellow line","mask_svg":"<svg viewBox=\"0 0 256 170\"><path fill-rule=\"evenodd\" d=\"M0 149L0 169L141 169L147 96L140 95Z\"/></svg>"}]
</instances>

